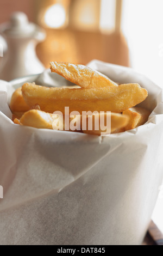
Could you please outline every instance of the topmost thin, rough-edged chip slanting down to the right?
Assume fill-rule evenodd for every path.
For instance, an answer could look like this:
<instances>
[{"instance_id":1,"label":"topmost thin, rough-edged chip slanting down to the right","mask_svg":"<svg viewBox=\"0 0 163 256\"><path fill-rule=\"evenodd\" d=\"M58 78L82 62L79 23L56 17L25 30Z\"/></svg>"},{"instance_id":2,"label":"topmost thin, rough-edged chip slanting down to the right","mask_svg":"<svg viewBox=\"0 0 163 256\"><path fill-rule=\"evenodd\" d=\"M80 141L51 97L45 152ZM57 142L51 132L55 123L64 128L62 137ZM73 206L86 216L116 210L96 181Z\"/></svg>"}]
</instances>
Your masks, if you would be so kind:
<instances>
[{"instance_id":1,"label":"topmost thin, rough-edged chip slanting down to the right","mask_svg":"<svg viewBox=\"0 0 163 256\"><path fill-rule=\"evenodd\" d=\"M84 65L51 62L51 71L82 88L115 87L117 84L100 72Z\"/></svg>"}]
</instances>

